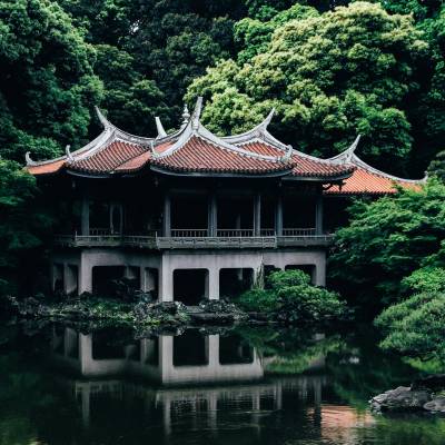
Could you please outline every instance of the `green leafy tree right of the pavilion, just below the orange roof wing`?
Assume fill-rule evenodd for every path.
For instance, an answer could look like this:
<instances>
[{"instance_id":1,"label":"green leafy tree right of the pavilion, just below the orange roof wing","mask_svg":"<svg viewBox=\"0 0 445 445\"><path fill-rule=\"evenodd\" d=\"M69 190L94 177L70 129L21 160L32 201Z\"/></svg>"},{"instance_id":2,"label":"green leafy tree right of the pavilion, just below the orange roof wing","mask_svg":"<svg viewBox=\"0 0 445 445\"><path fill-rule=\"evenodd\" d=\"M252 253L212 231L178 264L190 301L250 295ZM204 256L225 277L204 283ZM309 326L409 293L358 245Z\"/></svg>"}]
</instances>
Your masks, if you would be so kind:
<instances>
[{"instance_id":1,"label":"green leafy tree right of the pavilion, just below the orange roof wing","mask_svg":"<svg viewBox=\"0 0 445 445\"><path fill-rule=\"evenodd\" d=\"M349 226L336 234L332 268L349 288L360 289L357 303L362 297L386 306L399 298L402 279L414 270L445 265L444 200L445 185L431 179L421 190L350 208Z\"/></svg>"}]
</instances>

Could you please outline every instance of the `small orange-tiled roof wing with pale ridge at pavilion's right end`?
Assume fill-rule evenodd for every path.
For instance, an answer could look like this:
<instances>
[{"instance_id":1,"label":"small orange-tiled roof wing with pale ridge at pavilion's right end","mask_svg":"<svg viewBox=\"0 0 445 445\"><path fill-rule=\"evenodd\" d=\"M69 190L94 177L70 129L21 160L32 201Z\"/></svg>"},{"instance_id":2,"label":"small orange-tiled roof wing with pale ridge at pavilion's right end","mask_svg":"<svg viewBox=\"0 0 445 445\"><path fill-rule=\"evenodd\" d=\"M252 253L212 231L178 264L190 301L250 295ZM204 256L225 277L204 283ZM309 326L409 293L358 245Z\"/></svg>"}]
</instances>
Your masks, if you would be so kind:
<instances>
[{"instance_id":1,"label":"small orange-tiled roof wing with pale ridge at pavilion's right end","mask_svg":"<svg viewBox=\"0 0 445 445\"><path fill-rule=\"evenodd\" d=\"M387 195L396 192L395 186L417 189L425 181L398 178L370 167L355 154L358 141L359 137L347 150L329 159L339 166L353 165L356 169L343 186L334 185L326 195Z\"/></svg>"}]
</instances>

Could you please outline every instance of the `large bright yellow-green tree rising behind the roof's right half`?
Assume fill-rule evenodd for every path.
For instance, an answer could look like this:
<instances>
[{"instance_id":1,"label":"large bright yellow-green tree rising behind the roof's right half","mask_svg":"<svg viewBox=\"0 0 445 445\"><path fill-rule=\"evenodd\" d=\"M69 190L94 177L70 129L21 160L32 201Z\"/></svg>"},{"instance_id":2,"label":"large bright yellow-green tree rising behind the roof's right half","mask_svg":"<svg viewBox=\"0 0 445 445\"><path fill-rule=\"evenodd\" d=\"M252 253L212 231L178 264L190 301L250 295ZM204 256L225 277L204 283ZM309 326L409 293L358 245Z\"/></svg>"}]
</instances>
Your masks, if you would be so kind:
<instances>
[{"instance_id":1,"label":"large bright yellow-green tree rising behind the roof's right half","mask_svg":"<svg viewBox=\"0 0 445 445\"><path fill-rule=\"evenodd\" d=\"M421 88L416 68L428 51L423 33L411 17L366 2L308 16L278 26L269 42L270 22L237 24L238 38L253 46L251 56L263 52L243 63L250 57L248 46L239 63L208 69L191 83L187 99L204 93L210 102L204 119L220 132L251 126L255 115L221 122L217 110L227 106L228 96L233 103L247 98L254 110L275 105L276 130L296 148L330 156L359 132L368 159L402 169L413 140L406 101Z\"/></svg>"}]
</instances>

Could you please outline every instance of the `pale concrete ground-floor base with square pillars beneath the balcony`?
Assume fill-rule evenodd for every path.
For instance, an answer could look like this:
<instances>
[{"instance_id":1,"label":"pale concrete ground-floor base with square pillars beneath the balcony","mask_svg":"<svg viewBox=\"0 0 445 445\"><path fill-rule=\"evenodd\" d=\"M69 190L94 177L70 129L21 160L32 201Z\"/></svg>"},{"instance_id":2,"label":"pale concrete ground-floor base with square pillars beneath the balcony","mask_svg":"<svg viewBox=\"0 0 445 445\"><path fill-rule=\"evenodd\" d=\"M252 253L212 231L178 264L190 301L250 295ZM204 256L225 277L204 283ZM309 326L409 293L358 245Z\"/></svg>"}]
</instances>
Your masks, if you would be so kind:
<instances>
[{"instance_id":1,"label":"pale concrete ground-floor base with square pillars beneath the balcony","mask_svg":"<svg viewBox=\"0 0 445 445\"><path fill-rule=\"evenodd\" d=\"M326 251L323 248L261 250L162 250L131 251L110 248L66 249L53 253L52 284L66 293L93 290L95 267L122 267L125 276L139 276L145 291L158 288L160 301L174 300L175 270L206 270L205 298L219 299L221 269L251 269L254 283L261 286L264 268L285 269L312 266L313 284L326 284ZM139 274L135 270L139 269ZM156 283L158 281L158 283Z\"/></svg>"}]
</instances>

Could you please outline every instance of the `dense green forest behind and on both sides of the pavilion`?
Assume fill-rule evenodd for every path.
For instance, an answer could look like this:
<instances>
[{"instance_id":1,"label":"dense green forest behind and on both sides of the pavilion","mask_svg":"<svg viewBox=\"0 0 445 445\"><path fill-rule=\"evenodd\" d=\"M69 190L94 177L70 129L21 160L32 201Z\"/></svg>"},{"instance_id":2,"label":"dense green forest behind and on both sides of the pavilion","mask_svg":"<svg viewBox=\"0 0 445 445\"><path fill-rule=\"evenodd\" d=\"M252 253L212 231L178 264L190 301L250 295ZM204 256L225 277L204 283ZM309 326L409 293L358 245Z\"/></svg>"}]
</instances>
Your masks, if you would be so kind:
<instances>
[{"instance_id":1,"label":"dense green forest behind and on both sides of the pavilion","mask_svg":"<svg viewBox=\"0 0 445 445\"><path fill-rule=\"evenodd\" d=\"M79 148L98 134L93 106L148 136L155 116L176 128L197 96L220 134L275 107L273 132L303 151L333 156L360 134L359 154L376 167L444 176L442 0L0 0L0 293L55 219L36 204L24 154ZM443 266L444 196L434 182L422 199L357 204L334 271L346 263L383 306L398 300L405 277ZM400 227L405 238L388 243Z\"/></svg>"}]
</instances>

